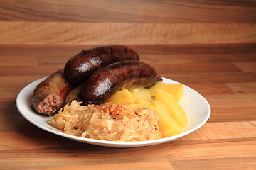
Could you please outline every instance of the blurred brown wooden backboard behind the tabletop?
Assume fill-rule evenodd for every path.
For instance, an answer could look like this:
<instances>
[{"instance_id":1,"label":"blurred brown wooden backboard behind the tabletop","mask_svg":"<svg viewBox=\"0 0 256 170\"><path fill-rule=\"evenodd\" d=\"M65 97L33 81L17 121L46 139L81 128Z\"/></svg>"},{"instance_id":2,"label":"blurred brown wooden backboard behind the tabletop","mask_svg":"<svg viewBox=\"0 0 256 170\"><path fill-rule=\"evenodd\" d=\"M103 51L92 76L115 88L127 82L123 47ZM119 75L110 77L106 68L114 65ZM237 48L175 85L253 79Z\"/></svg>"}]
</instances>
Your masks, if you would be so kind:
<instances>
[{"instance_id":1,"label":"blurred brown wooden backboard behind the tabletop","mask_svg":"<svg viewBox=\"0 0 256 170\"><path fill-rule=\"evenodd\" d=\"M255 42L253 0L0 0L0 45Z\"/></svg>"}]
</instances>

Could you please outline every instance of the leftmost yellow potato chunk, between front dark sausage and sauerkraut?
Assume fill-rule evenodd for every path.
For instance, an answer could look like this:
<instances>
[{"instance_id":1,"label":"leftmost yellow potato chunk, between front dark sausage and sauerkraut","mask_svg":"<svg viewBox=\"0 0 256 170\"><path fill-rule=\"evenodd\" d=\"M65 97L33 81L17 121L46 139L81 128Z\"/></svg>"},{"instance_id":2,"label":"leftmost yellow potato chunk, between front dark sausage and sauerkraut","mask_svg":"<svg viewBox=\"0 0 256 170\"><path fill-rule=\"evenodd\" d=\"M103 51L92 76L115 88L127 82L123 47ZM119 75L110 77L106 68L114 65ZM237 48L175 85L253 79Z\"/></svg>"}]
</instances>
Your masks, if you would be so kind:
<instances>
[{"instance_id":1,"label":"leftmost yellow potato chunk, between front dark sausage and sauerkraut","mask_svg":"<svg viewBox=\"0 0 256 170\"><path fill-rule=\"evenodd\" d=\"M110 96L105 103L112 102L117 105L134 103L136 98L127 89L117 91L115 94Z\"/></svg>"}]
</instances>

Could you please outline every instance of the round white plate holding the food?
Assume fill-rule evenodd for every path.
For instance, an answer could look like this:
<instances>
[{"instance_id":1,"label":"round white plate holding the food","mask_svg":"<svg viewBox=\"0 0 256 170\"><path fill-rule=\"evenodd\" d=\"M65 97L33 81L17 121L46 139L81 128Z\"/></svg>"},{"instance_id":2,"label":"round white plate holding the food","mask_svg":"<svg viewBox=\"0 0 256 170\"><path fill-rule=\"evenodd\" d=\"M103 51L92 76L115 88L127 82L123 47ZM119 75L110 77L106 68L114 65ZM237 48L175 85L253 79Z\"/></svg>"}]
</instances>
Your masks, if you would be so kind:
<instances>
[{"instance_id":1,"label":"round white plate holding the food","mask_svg":"<svg viewBox=\"0 0 256 170\"><path fill-rule=\"evenodd\" d=\"M31 84L28 84L24 89L20 91L16 99L16 106L18 111L23 115L26 120L38 128L52 132L55 135L60 135L62 137L67 137L71 140L76 140L79 142L85 142L93 145L101 145L105 147L142 147L147 145L156 145L164 142L169 142L171 140L176 140L178 137L183 137L189 133L201 128L203 124L206 123L208 118L210 118L210 105L206 98L203 98L201 94L198 94L195 90L184 86L184 94L179 103L183 107L184 111L188 116L188 126L183 129L181 134L165 137L159 140L149 140L141 142L116 142L116 141L106 141L106 140L92 140L82 137L75 137L73 135L67 135L60 130L57 130L46 123L46 120L50 119L46 115L40 115L33 110L32 106L32 94L33 89L46 78L38 79ZM171 79L163 79L166 83L178 84L178 82Z\"/></svg>"}]
</instances>

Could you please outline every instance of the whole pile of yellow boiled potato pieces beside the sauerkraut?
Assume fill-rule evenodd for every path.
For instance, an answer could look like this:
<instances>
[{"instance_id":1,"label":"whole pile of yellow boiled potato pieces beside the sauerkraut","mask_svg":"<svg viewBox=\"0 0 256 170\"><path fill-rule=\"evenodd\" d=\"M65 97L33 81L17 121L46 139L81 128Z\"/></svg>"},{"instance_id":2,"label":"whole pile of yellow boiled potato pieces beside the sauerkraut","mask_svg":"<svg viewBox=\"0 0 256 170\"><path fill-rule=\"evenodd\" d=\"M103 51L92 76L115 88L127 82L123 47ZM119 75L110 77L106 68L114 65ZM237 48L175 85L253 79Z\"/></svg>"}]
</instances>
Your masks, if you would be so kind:
<instances>
[{"instance_id":1,"label":"whole pile of yellow boiled potato pieces beside the sauerkraut","mask_svg":"<svg viewBox=\"0 0 256 170\"><path fill-rule=\"evenodd\" d=\"M154 86L151 88L154 88ZM129 91L132 91L133 93L129 91L127 92L127 89L117 91L117 93L107 99L107 102L117 104L122 101L122 104L129 103L129 108L151 108L159 115L159 128L163 136L170 137L172 135L177 135L188 125L188 118L185 111L183 111L178 100L172 94L161 88L155 89L156 93L154 96L150 96L150 98L145 97L149 93L146 91L150 91L151 88L130 88ZM136 93L134 91L136 91ZM123 94L124 92L129 93L129 95L125 98L122 98L121 95L117 96L117 94ZM145 95L138 95L144 93Z\"/></svg>"}]
</instances>

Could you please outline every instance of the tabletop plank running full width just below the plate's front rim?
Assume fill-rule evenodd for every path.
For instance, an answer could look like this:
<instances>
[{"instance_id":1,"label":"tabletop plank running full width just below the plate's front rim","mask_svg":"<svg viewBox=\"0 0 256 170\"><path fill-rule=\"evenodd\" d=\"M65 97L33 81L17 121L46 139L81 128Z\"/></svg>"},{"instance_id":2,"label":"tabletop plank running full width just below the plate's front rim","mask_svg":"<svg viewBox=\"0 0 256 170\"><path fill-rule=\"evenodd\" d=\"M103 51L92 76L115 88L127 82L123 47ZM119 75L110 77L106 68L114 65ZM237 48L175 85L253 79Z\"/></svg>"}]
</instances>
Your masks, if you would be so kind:
<instances>
[{"instance_id":1,"label":"tabletop plank running full width just below the plate's front rim","mask_svg":"<svg viewBox=\"0 0 256 170\"><path fill-rule=\"evenodd\" d=\"M190 145L164 145L140 148L105 148L84 145L75 149L43 148L4 150L0 154L0 168L43 169L65 166L88 166L95 164L123 164L130 162L162 162L178 160L256 157L255 140L241 142L210 142ZM152 154L154 149L154 154ZM16 162L16 164L11 164Z\"/></svg>"}]
</instances>

